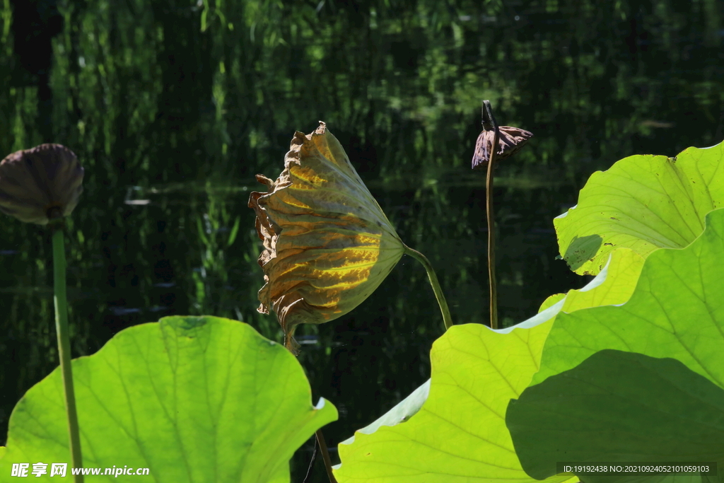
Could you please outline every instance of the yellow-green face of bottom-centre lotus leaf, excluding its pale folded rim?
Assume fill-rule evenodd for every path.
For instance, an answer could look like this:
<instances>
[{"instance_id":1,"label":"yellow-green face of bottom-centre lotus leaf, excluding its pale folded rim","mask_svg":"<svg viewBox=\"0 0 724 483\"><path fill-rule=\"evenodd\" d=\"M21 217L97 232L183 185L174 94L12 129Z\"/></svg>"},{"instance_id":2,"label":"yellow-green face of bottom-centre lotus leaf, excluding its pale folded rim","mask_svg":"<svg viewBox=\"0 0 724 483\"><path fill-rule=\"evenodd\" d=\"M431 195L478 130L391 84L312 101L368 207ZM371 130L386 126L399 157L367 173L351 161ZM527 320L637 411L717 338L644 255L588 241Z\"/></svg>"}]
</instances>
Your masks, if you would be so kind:
<instances>
[{"instance_id":1,"label":"yellow-green face of bottom-centre lotus leaf, excluding its pale folded rim","mask_svg":"<svg viewBox=\"0 0 724 483\"><path fill-rule=\"evenodd\" d=\"M538 369L551 323L494 332L456 325L433 345L429 396L408 422L356 432L339 447L340 483L532 482L505 428L505 408ZM563 482L571 475L555 476Z\"/></svg>"}]
</instances>

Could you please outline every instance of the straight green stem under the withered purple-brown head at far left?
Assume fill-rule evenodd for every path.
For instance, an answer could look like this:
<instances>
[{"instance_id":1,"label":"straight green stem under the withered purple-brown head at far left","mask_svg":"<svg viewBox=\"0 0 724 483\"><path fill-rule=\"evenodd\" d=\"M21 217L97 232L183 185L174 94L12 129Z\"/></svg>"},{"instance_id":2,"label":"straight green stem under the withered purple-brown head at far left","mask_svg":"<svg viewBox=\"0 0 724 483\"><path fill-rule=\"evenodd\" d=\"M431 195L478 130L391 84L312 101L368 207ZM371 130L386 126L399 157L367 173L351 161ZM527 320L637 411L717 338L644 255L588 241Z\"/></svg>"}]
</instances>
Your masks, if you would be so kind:
<instances>
[{"instance_id":1,"label":"straight green stem under the withered purple-brown head at far left","mask_svg":"<svg viewBox=\"0 0 724 483\"><path fill-rule=\"evenodd\" d=\"M55 329L58 334L58 354L60 370L63 374L65 411L68 416L70 458L73 468L82 468L83 456L80 453L80 432L75 408L75 392L73 391L73 372L70 366L70 335L68 334L68 305L65 290L65 240L62 226L53 228L53 283ZM77 474L73 478L75 483L83 483L83 475Z\"/></svg>"}]
</instances>

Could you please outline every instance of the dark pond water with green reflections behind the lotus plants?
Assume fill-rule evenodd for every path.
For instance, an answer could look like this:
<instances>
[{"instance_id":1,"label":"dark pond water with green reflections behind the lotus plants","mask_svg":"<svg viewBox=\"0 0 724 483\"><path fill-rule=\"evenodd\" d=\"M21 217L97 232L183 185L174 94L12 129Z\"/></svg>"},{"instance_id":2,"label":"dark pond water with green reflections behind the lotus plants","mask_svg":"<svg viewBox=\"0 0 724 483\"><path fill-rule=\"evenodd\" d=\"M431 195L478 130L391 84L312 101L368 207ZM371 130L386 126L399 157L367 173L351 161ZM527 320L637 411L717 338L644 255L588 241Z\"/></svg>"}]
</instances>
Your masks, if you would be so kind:
<instances>
[{"instance_id":1,"label":"dark pond water with green reflections behind the lotus plants","mask_svg":"<svg viewBox=\"0 0 724 483\"><path fill-rule=\"evenodd\" d=\"M432 261L457 324L488 318L484 175L470 169L483 99L535 135L497 171L505 325L584 285L555 259L552 218L592 172L724 138L722 1L215 4L0 7L0 154L56 142L85 167L67 242L74 356L171 314L242 320L280 340L274 316L256 313L261 247L246 205L253 176L277 177L292 134L319 119ZM57 356L49 236L9 217L0 231L4 440L14 404ZM335 446L429 377L442 319L405 257L351 314L298 334L315 400L340 409L325 429ZM292 461L293 482L310 453Z\"/></svg>"}]
</instances>

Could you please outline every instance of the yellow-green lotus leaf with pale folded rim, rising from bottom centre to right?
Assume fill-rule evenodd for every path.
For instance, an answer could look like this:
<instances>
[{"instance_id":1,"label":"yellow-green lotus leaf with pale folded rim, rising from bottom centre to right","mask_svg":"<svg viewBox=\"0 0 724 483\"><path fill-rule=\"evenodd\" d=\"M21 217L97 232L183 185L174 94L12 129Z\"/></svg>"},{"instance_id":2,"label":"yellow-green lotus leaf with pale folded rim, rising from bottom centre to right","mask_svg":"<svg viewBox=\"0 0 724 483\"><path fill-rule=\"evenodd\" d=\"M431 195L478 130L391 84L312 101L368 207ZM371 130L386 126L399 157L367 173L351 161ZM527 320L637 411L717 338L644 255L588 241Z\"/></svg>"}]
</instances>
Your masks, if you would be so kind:
<instances>
[{"instance_id":1,"label":"yellow-green lotus leaf with pale folded rim, rising from bottom centre to right","mask_svg":"<svg viewBox=\"0 0 724 483\"><path fill-rule=\"evenodd\" d=\"M486 421L485 424L490 424L490 427L487 428L490 432L508 434L504 416L502 416L505 411L501 411L501 408L505 407L507 398L513 398L515 391L520 387L517 385L510 387L508 382L510 374L507 371L513 370L516 374L515 377L520 377L521 380L526 377L530 378L536 371L537 362L535 361L538 361L540 357L540 346L536 343L545 337L543 332L547 332L547 328L550 327L550 323L544 324L544 322L552 322L562 309L573 311L596 304L625 302L633 291L633 286L636 285L642 264L641 256L622 248L612 254L610 264L586 287L581 290L571 290L568 294L564 294L563 300L557 301L547 310L541 311L521 324L497 331L478 324L453 327L435 343L431 353L432 385L437 387L437 393L432 398L432 402L426 402L431 398L429 395L431 381L428 381L374 423L358 430L355 436L342 442L340 456L343 464L337 467L336 473L340 482L397 482L400 477L403 477L403 480L400 481L407 481L404 478L408 478L409 481L417 481L419 471L415 471L415 468L421 465L422 460L425 462L421 467L434 466L433 469L427 471L426 477L429 478L429 481L467 481L464 476L458 474L459 458L451 457L445 460L444 446L453 445L457 448L455 442L445 443L437 438L419 437L419 434L426 432L428 426L435 427L435 424L441 424L439 416L437 416L439 408L442 408L442 411L452 411L455 414L455 420L461 421L460 424L463 427L468 424L465 421ZM541 324L544 325L541 326ZM474 336L470 336L470 332L457 332L462 331L463 327L465 331L473 331ZM527 330L533 329L536 333L542 331L536 335L536 337L542 338L526 336L533 338L527 342L523 340L521 335L526 334ZM453 337L456 333L459 334L457 337L445 342L446 337ZM529 346L526 347L526 344ZM495 350L490 350L490 347ZM458 354L458 351L462 351L463 354ZM517 358L519 353L523 354L520 361ZM483 361L480 361L477 356L471 357L470 354L481 355ZM531 363L531 360L534 362ZM450 371L452 371L452 375ZM461 374L457 374L457 371L460 371ZM504 389L498 390L499 387ZM488 399L494 395L493 390L498 390L495 394L500 395L500 398L491 402ZM466 397L460 397L460 392L463 392ZM481 400L475 399L478 392L481 392ZM424 411L418 414L421 406ZM425 412L427 415L423 416ZM455 434L448 429L446 429L447 434L455 437ZM508 477L531 481L521 474L520 466L515 463L517 460L512 453L505 453L505 455L510 458L508 464L515 468L515 471L511 472L510 468L503 470L493 467L491 469L485 465L490 461L497 462L496 453L489 451L489 446L494 444L485 440L484 437L476 441L468 435L467 439L471 441L468 451L475 455L475 458L478 458L479 454L487 455L474 465L468 462L471 464L471 468L475 466L474 469L471 469L471 474L476 476L471 481ZM426 440L432 440L434 446L428 447ZM374 453L368 451L369 448L372 448ZM497 450L500 451L500 448ZM431 453L435 458L429 458ZM415 455L409 460L409 467L400 466L398 463L400 454ZM476 466L477 464L481 466ZM488 472L475 473L475 471ZM510 476L511 474L513 476ZM560 478L556 478L555 481L560 481Z\"/></svg>"}]
</instances>

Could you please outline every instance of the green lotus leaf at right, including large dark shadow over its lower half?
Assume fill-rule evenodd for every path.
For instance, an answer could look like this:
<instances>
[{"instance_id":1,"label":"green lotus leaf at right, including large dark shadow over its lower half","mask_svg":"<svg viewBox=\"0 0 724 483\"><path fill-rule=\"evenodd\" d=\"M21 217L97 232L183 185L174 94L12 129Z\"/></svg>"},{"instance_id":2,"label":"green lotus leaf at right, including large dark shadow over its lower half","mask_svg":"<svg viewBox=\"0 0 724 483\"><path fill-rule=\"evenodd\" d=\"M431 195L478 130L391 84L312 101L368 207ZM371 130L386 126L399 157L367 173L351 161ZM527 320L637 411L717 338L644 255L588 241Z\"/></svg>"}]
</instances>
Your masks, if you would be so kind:
<instances>
[{"instance_id":1,"label":"green lotus leaf at right, including large dark shadow over its lower half","mask_svg":"<svg viewBox=\"0 0 724 483\"><path fill-rule=\"evenodd\" d=\"M721 266L723 209L707 215L706 230L688 247L651 253L628 302L557 316L541 369L509 413L533 476L552 474L550 459L563 454L724 461ZM571 424L553 428L562 418Z\"/></svg>"}]
</instances>

